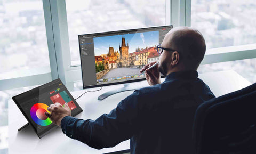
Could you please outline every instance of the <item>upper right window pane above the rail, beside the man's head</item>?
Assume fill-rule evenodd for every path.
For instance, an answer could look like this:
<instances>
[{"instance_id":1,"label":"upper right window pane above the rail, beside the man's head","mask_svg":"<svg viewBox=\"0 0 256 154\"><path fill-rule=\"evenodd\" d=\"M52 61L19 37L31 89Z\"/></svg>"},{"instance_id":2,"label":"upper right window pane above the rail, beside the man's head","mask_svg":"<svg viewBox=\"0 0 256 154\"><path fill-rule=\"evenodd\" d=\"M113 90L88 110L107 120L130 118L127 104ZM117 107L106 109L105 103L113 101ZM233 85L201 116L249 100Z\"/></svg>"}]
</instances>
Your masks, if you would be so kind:
<instances>
[{"instance_id":1,"label":"upper right window pane above the rail, beside the man's head","mask_svg":"<svg viewBox=\"0 0 256 154\"><path fill-rule=\"evenodd\" d=\"M191 27L207 48L256 43L256 1L192 0Z\"/></svg>"}]
</instances>

